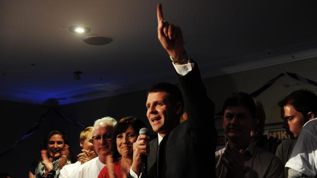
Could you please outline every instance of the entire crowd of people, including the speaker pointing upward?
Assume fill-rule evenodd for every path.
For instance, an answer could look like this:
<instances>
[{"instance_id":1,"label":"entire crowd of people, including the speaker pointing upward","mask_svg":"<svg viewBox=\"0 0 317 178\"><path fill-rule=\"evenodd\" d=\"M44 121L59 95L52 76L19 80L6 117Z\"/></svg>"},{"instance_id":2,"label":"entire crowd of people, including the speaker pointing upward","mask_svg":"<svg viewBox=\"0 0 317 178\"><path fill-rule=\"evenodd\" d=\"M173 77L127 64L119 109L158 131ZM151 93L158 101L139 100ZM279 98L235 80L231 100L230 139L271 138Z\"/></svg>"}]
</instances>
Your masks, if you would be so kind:
<instances>
[{"instance_id":1,"label":"entire crowd of people, including the speaker pointing upward","mask_svg":"<svg viewBox=\"0 0 317 178\"><path fill-rule=\"evenodd\" d=\"M228 138L216 151L215 106L207 97L198 64L187 56L181 29L157 8L158 39L172 60L179 88L158 83L148 89L146 116L157 138L139 134L136 117L104 117L79 134L82 152L71 164L66 136L45 139L29 178L314 178L317 176L317 96L296 90L278 103L290 140L263 135L265 111L245 92L223 103ZM184 109L186 108L186 110ZM211 152L215 152L215 156Z\"/></svg>"}]
</instances>

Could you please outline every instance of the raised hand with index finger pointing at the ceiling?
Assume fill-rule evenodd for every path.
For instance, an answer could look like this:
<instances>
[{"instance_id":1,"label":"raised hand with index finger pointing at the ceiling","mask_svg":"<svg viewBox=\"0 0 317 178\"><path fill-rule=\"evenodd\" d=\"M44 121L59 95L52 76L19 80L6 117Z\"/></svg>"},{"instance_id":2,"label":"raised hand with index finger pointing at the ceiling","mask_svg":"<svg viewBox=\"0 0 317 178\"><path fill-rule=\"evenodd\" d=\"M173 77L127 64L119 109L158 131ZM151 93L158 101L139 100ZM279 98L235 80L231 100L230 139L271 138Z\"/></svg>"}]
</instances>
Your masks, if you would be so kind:
<instances>
[{"instance_id":1,"label":"raised hand with index finger pointing at the ceiling","mask_svg":"<svg viewBox=\"0 0 317 178\"><path fill-rule=\"evenodd\" d=\"M173 58L182 56L185 52L183 45L183 36L178 26L169 24L163 18L162 5L159 3L158 13L158 40L163 48ZM187 62L187 61L186 61Z\"/></svg>"}]
</instances>

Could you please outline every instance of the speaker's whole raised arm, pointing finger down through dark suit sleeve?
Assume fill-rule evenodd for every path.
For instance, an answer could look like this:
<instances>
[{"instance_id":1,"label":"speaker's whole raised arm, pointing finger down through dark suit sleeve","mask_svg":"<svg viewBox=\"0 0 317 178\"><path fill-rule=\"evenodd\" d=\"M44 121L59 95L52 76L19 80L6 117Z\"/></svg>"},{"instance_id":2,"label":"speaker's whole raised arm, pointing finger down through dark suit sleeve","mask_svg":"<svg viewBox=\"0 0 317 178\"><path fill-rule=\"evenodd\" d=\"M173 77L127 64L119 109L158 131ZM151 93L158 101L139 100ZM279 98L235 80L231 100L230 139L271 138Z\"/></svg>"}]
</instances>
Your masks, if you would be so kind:
<instances>
[{"instance_id":1,"label":"speaker's whole raised arm, pointing finger down through dark suit sleeve","mask_svg":"<svg viewBox=\"0 0 317 178\"><path fill-rule=\"evenodd\" d=\"M178 26L169 24L163 18L162 5L158 4L158 39L166 52L179 64L187 64L188 57L183 46L183 36ZM180 74L180 73L178 73ZM198 65L186 75L179 76L178 82L183 94L189 116L192 136L198 142L205 142L212 133L212 146L215 147L217 131L214 126L214 103L207 97L206 89L201 81Z\"/></svg>"}]
</instances>

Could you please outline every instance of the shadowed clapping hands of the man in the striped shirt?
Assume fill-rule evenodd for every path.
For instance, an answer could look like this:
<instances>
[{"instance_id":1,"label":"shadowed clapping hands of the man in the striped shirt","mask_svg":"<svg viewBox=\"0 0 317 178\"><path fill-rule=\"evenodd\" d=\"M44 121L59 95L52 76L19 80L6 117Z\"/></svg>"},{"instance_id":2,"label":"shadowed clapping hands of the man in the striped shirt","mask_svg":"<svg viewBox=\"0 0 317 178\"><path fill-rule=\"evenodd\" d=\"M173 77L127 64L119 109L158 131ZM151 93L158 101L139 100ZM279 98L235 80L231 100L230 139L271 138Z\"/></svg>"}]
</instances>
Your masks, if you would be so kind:
<instances>
[{"instance_id":1,"label":"shadowed clapping hands of the man in the striped shirt","mask_svg":"<svg viewBox=\"0 0 317 178\"><path fill-rule=\"evenodd\" d=\"M243 164L243 149L239 151L235 148L232 150L226 149L224 151L224 159L222 159L223 164L228 169L229 178L244 178L246 168Z\"/></svg>"}]
</instances>

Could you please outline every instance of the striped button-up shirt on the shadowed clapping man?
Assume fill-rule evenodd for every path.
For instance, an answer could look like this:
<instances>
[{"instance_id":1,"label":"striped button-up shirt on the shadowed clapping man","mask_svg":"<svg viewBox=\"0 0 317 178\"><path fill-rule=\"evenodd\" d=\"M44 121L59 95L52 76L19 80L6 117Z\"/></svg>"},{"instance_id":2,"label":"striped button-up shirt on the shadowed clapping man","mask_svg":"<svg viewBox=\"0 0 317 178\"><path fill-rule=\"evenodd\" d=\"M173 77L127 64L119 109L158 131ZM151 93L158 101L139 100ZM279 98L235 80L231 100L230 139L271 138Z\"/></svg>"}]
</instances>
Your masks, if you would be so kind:
<instances>
[{"instance_id":1,"label":"striped button-up shirt on the shadowed clapping man","mask_svg":"<svg viewBox=\"0 0 317 178\"><path fill-rule=\"evenodd\" d=\"M222 163L226 146L216 152L217 178L226 178L227 168ZM244 178L284 178L284 165L275 155L250 142L244 152L243 163L246 168Z\"/></svg>"}]
</instances>

